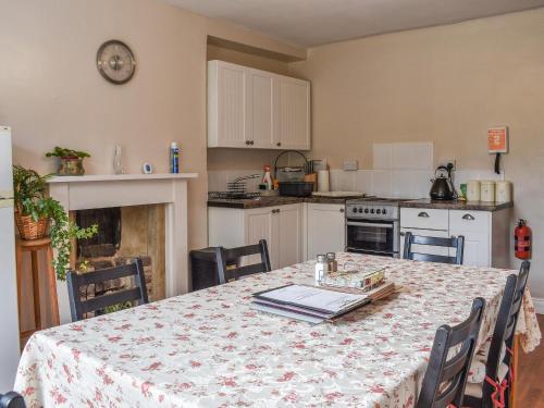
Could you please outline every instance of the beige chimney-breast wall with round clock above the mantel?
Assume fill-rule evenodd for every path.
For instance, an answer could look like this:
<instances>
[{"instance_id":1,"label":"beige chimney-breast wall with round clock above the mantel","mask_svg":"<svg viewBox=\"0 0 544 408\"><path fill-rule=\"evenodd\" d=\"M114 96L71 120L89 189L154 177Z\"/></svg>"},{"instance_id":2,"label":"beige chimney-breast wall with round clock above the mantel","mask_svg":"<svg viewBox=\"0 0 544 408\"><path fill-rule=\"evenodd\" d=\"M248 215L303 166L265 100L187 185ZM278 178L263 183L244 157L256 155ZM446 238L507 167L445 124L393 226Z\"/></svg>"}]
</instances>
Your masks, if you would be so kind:
<instances>
[{"instance_id":1,"label":"beige chimney-breast wall with round clock above the mantel","mask_svg":"<svg viewBox=\"0 0 544 408\"><path fill-rule=\"evenodd\" d=\"M145 161L166 172L176 140L182 171L199 173L189 182L189 247L206 246L208 34L285 60L306 50L161 0L0 0L0 123L13 128L14 162L53 172L44 154L60 145L91 153L88 174L108 174L121 144L126 172ZM97 49L111 38L126 41L138 62L123 86L96 69Z\"/></svg>"}]
</instances>

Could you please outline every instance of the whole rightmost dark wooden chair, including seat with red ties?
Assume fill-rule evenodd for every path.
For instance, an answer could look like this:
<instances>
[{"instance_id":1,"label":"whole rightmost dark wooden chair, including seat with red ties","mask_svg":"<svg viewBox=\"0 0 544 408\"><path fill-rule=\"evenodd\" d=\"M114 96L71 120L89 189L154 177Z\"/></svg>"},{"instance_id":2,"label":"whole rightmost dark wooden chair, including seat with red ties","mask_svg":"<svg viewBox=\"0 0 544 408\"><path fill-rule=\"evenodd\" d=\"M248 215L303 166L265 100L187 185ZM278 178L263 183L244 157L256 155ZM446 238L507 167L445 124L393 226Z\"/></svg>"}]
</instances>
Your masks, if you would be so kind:
<instances>
[{"instance_id":1,"label":"whole rightmost dark wooden chair, including seat with red ties","mask_svg":"<svg viewBox=\"0 0 544 408\"><path fill-rule=\"evenodd\" d=\"M500 301L497 321L489 348L483 350L485 361L485 379L482 383L468 383L465 406L470 408L493 408L510 405L509 393L511 382L507 378L511 373L514 338L519 312L523 301L531 263L524 261L519 274L508 276L506 288ZM477 360L478 360L477 355ZM502 388L502 390L500 390ZM500 400L503 394L504 400ZM494 403L494 400L496 403Z\"/></svg>"}]
</instances>

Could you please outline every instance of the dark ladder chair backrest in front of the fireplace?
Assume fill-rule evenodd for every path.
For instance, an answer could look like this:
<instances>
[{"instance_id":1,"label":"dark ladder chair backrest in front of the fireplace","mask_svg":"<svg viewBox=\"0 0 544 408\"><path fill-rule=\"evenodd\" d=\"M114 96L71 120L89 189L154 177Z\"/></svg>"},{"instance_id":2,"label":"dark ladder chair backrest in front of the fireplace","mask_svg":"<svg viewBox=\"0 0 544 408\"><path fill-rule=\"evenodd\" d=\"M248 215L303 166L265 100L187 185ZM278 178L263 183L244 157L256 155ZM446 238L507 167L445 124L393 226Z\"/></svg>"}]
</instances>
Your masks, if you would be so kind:
<instances>
[{"instance_id":1,"label":"dark ladder chair backrest in front of the fireplace","mask_svg":"<svg viewBox=\"0 0 544 408\"><path fill-rule=\"evenodd\" d=\"M82 286L102 284L108 281L129 276L134 276L134 287L82 300L79 290ZM96 314L99 314L109 306L122 305L127 301L138 301L138 305L148 302L146 276L144 275L144 264L140 258L136 258L134 262L121 267L101 269L82 274L69 271L66 281L70 310L72 312L72 321L74 322L84 319L86 313L96 312Z\"/></svg>"}]
</instances>

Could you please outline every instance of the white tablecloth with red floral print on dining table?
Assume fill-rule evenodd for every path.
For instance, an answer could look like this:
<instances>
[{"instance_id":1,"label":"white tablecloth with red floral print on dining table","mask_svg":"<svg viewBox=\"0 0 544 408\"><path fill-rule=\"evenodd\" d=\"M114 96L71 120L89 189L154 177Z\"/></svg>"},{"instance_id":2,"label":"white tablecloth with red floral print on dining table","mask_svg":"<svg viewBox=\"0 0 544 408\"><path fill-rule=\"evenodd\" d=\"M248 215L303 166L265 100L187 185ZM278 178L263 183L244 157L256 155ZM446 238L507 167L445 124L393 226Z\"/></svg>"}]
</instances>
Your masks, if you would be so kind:
<instances>
[{"instance_id":1,"label":"white tablecloth with red floral print on dining table","mask_svg":"<svg viewBox=\"0 0 544 408\"><path fill-rule=\"evenodd\" d=\"M436 329L487 301L512 271L339 254L383 265L392 298L310 325L251 309L251 294L309 283L313 262L36 333L15 390L28 407L413 407ZM529 293L523 346L540 331Z\"/></svg>"}]
</instances>

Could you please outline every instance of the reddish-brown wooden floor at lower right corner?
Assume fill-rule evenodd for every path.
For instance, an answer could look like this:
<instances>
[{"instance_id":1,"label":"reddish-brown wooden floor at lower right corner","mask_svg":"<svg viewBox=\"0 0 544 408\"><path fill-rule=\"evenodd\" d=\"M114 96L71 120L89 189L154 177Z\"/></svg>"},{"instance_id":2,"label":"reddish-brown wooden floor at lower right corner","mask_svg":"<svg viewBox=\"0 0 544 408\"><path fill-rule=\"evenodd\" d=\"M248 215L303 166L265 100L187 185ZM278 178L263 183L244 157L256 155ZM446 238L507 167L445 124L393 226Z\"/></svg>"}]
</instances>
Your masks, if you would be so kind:
<instances>
[{"instance_id":1,"label":"reddish-brown wooden floor at lower right corner","mask_svg":"<svg viewBox=\"0 0 544 408\"><path fill-rule=\"evenodd\" d=\"M539 314L539 324L544 330L544 314ZM544 345L520 353L518 370L518 408L544 408Z\"/></svg>"}]
</instances>

